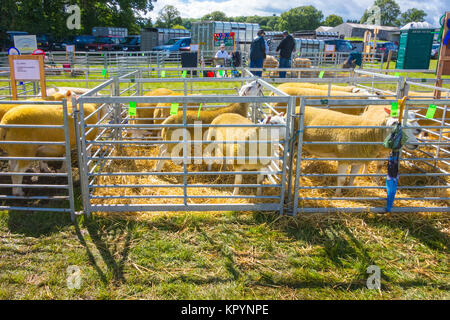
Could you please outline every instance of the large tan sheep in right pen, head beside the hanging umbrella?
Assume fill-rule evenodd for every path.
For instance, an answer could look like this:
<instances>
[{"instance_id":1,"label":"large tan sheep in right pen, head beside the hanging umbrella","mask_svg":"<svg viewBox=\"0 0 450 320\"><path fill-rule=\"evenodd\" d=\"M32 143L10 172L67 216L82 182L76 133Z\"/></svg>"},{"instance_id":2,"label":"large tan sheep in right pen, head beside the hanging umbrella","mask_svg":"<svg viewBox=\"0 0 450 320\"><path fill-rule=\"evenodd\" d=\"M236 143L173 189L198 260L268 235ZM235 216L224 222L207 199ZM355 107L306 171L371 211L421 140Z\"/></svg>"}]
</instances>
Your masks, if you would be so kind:
<instances>
[{"instance_id":1,"label":"large tan sheep in right pen, head beside the hanging umbrella","mask_svg":"<svg viewBox=\"0 0 450 320\"><path fill-rule=\"evenodd\" d=\"M385 116L382 119L368 119L364 116L355 116L343 114L337 111L326 110L321 108L306 107L304 113L305 126L324 126L323 128L306 128L303 134L303 141L326 141L336 142L336 144L305 144L303 149L310 154L319 157L332 158L376 158L384 150L382 145L363 145L363 144L339 144L339 142L383 142L385 138L392 132L392 128L398 123L397 119L388 117L390 110L385 108ZM299 113L299 108L296 112ZM408 117L408 126L415 126L414 114L406 115ZM295 123L298 128L298 119ZM342 128L329 129L326 126L387 126L390 128ZM412 133L411 129L404 130L407 135L405 147L415 150L418 147L418 141ZM351 174L357 174L364 160L338 160L338 173L346 174L347 169L351 166ZM353 185L355 177L350 177L349 185ZM341 186L345 181L345 177L338 177L336 196L341 195Z\"/></svg>"}]
</instances>

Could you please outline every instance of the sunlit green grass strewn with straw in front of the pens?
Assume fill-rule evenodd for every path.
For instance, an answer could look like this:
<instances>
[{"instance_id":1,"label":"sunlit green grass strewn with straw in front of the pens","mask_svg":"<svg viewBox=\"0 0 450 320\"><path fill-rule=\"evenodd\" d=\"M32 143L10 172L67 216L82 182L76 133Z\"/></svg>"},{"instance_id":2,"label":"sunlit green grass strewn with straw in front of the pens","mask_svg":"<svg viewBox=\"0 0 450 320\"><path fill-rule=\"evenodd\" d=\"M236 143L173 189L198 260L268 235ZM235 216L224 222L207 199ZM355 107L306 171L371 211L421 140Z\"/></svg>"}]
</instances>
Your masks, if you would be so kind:
<instances>
[{"instance_id":1,"label":"sunlit green grass strewn with straw in front of the pens","mask_svg":"<svg viewBox=\"0 0 450 320\"><path fill-rule=\"evenodd\" d=\"M448 216L0 214L0 299L449 299ZM366 288L369 265L382 288ZM80 289L68 289L78 266Z\"/></svg>"}]
</instances>

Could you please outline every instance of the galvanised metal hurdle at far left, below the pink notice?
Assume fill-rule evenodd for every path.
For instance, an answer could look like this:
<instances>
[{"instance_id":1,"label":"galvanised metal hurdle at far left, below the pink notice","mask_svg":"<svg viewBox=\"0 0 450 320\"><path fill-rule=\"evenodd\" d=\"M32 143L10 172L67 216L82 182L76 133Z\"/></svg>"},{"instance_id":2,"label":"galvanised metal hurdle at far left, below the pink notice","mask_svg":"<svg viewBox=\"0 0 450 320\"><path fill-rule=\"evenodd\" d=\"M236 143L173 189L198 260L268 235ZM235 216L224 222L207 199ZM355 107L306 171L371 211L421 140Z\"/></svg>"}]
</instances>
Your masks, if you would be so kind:
<instances>
[{"instance_id":1,"label":"galvanised metal hurdle at far left, below the pink notice","mask_svg":"<svg viewBox=\"0 0 450 320\"><path fill-rule=\"evenodd\" d=\"M0 105L3 104L24 104L24 101L6 101L1 100ZM27 105L50 105L54 107L62 107L63 110L63 124L61 125L2 125L0 128L20 128L24 130L30 129L46 129L46 130L63 130L64 141L1 141L2 145L40 145L40 146L60 146L65 152L60 157L12 157L3 154L0 157L2 163L2 172L0 172L0 210L11 211L35 211L35 212L60 212L70 213L72 220L75 219L75 205L74 205L74 188L72 178L72 162L71 162L71 144L70 144L70 125L72 119L69 114L70 109L67 107L67 101L51 102L51 101L28 101ZM15 162L19 160L30 161L51 161L56 162L61 166L63 162L66 164L65 172L61 173L40 173L37 172L11 172L6 169L8 162ZM11 179L13 176L23 176L22 184L13 184ZM34 178L34 179L31 179ZM37 180L35 180L37 179ZM36 182L33 182L35 180ZM25 196L11 195L12 188L21 187L25 192Z\"/></svg>"}]
</instances>

